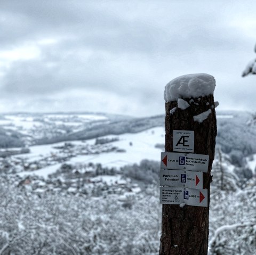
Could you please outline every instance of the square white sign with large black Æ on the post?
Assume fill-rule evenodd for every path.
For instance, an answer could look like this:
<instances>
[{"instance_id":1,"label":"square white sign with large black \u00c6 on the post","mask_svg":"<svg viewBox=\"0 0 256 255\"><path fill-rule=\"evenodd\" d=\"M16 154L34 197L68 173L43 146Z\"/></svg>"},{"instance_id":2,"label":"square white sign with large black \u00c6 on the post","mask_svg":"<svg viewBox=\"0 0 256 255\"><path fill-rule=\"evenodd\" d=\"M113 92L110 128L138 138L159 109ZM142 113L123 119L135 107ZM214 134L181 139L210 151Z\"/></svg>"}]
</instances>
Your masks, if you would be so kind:
<instances>
[{"instance_id":1,"label":"square white sign with large black \u00c6 on the post","mask_svg":"<svg viewBox=\"0 0 256 255\"><path fill-rule=\"evenodd\" d=\"M173 130L173 151L194 152L194 131Z\"/></svg>"}]
</instances>

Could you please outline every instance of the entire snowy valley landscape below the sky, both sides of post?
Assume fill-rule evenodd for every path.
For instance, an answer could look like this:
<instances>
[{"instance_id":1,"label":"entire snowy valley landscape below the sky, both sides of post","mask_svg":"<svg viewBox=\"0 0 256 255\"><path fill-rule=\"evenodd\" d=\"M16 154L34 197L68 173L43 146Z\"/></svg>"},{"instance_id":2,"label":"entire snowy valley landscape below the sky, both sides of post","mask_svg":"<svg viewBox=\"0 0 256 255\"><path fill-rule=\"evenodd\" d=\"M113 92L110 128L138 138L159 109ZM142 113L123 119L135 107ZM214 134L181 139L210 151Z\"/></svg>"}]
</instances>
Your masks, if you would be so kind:
<instances>
[{"instance_id":1,"label":"entire snowy valley landscape below the sky, both sides of post","mask_svg":"<svg viewBox=\"0 0 256 255\"><path fill-rule=\"evenodd\" d=\"M256 123L217 122L209 254L255 254ZM0 136L0 254L158 254L164 116L2 114Z\"/></svg>"}]
</instances>

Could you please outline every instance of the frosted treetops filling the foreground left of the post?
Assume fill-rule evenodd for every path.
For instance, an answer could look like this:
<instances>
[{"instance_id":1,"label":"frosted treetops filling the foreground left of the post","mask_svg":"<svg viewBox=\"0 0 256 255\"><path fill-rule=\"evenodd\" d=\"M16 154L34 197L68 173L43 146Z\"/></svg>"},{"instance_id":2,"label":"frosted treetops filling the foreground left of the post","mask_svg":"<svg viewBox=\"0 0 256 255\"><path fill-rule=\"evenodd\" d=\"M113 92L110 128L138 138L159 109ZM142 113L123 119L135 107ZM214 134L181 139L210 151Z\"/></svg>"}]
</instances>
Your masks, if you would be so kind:
<instances>
[{"instance_id":1,"label":"frosted treetops filling the foreground left of the post","mask_svg":"<svg viewBox=\"0 0 256 255\"><path fill-rule=\"evenodd\" d=\"M156 254L159 204L155 186L132 210L118 196L36 194L0 177L0 254ZM146 209L145 209L146 208Z\"/></svg>"}]
</instances>

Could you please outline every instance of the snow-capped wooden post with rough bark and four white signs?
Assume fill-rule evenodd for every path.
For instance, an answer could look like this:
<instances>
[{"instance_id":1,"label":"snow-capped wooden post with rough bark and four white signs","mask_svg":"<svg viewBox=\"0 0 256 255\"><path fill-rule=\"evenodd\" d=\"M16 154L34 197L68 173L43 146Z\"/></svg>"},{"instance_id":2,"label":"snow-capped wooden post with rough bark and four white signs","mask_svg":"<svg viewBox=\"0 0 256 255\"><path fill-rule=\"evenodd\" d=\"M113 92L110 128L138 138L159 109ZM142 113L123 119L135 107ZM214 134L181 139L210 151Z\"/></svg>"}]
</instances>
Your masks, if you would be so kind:
<instances>
[{"instance_id":1,"label":"snow-capped wooden post with rough bark and four white signs","mask_svg":"<svg viewBox=\"0 0 256 255\"><path fill-rule=\"evenodd\" d=\"M214 88L214 77L205 73L180 76L165 86L161 255L207 254L211 168L217 135Z\"/></svg>"}]
</instances>

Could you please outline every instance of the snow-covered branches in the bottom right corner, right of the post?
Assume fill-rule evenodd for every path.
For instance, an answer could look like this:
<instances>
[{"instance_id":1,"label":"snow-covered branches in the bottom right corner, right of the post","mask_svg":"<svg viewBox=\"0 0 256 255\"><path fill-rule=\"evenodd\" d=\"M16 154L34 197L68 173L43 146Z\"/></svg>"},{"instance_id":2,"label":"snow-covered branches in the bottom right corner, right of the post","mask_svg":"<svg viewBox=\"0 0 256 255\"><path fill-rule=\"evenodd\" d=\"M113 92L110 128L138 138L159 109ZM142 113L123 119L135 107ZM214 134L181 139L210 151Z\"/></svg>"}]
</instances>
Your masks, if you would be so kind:
<instances>
[{"instance_id":1,"label":"snow-covered branches in the bottom right corner, right of the post","mask_svg":"<svg viewBox=\"0 0 256 255\"><path fill-rule=\"evenodd\" d=\"M244 190L211 200L210 254L256 254L255 184L254 178Z\"/></svg>"}]
</instances>

